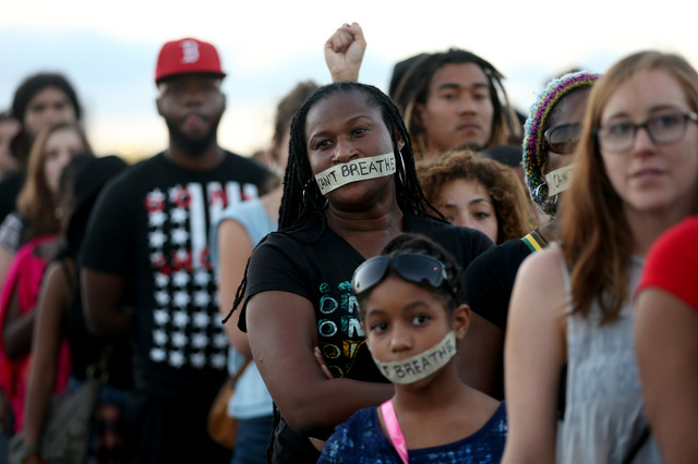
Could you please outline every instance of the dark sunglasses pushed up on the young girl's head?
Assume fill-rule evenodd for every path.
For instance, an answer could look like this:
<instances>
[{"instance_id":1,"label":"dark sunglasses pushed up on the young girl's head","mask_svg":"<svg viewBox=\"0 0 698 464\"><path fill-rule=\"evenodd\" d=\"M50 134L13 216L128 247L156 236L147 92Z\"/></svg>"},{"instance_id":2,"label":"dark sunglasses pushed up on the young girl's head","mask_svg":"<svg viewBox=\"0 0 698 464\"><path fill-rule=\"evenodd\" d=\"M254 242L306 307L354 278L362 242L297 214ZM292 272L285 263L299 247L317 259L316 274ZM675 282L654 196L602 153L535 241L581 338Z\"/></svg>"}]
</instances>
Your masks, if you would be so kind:
<instances>
[{"instance_id":1,"label":"dark sunglasses pushed up on the young girl's head","mask_svg":"<svg viewBox=\"0 0 698 464\"><path fill-rule=\"evenodd\" d=\"M405 280L423 284L434 289L445 284L447 290L456 295L446 276L446 267L442 261L419 253L405 253L397 256L375 256L366 259L353 272L351 286L360 295L377 285L389 268L393 268Z\"/></svg>"}]
</instances>

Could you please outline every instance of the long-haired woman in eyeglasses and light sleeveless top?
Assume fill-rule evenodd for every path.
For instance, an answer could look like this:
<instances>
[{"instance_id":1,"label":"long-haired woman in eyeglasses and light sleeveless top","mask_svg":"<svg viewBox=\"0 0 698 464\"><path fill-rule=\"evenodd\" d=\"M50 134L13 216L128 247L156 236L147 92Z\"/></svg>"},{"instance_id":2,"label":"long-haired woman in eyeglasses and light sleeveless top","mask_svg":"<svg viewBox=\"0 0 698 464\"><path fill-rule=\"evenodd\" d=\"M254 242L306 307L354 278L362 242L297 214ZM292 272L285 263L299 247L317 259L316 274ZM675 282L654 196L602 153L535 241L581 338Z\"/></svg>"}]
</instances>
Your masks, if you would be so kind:
<instances>
[{"instance_id":1,"label":"long-haired woman in eyeglasses and light sleeveless top","mask_svg":"<svg viewBox=\"0 0 698 464\"><path fill-rule=\"evenodd\" d=\"M643 412L630 295L654 239L695 206L697 109L698 73L674 54L631 54L594 84L559 245L527 258L512 295L505 462L661 462Z\"/></svg>"}]
</instances>

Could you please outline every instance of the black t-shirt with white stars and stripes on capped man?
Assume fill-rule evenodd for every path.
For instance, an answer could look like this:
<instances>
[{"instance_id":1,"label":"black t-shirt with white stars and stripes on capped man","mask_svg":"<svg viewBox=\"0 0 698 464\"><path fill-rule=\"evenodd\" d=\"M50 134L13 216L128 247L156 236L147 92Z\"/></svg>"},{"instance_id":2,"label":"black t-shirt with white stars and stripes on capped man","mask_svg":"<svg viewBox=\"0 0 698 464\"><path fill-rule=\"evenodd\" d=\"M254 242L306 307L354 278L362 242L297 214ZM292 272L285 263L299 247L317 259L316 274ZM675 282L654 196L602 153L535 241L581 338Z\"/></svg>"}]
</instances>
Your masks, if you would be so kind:
<instances>
[{"instance_id":1,"label":"black t-shirt with white stars and stripes on capped man","mask_svg":"<svg viewBox=\"0 0 698 464\"><path fill-rule=\"evenodd\" d=\"M184 169L159 154L128 168L100 193L81 265L128 279L137 391L191 398L219 388L228 340L208 256L209 230L228 205L256 197L269 175L230 152L205 171Z\"/></svg>"}]
</instances>

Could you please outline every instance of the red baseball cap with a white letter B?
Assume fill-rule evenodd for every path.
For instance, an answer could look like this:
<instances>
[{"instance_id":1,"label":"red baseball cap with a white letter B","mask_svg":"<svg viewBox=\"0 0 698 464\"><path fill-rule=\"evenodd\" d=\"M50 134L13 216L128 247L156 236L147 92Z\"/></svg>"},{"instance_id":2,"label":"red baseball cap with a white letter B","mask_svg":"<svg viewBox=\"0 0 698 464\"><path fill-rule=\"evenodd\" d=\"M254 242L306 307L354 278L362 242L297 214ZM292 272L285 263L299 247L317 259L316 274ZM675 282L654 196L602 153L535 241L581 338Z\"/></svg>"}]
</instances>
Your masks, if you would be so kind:
<instances>
[{"instance_id":1,"label":"red baseball cap with a white letter B","mask_svg":"<svg viewBox=\"0 0 698 464\"><path fill-rule=\"evenodd\" d=\"M195 38L168 41L157 57L155 82L180 74L205 73L225 77L213 45Z\"/></svg>"}]
</instances>

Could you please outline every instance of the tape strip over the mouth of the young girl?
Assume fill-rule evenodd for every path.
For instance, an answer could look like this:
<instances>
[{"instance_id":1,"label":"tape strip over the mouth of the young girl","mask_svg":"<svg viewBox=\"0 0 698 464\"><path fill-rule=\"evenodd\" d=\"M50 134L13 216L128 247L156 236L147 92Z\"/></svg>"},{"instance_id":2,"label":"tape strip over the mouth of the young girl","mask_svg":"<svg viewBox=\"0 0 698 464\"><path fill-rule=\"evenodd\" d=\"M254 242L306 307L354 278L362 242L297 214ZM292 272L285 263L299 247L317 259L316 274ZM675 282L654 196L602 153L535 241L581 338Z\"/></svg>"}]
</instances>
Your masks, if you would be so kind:
<instances>
[{"instance_id":1,"label":"tape strip over the mouth of the young girl","mask_svg":"<svg viewBox=\"0 0 698 464\"><path fill-rule=\"evenodd\" d=\"M433 347L407 359L383 363L373 356L373 362L393 383L413 383L425 379L456 355L456 332L450 331Z\"/></svg>"}]
</instances>

